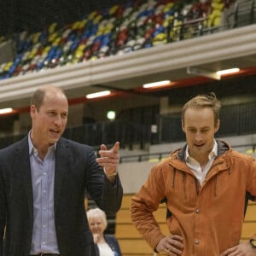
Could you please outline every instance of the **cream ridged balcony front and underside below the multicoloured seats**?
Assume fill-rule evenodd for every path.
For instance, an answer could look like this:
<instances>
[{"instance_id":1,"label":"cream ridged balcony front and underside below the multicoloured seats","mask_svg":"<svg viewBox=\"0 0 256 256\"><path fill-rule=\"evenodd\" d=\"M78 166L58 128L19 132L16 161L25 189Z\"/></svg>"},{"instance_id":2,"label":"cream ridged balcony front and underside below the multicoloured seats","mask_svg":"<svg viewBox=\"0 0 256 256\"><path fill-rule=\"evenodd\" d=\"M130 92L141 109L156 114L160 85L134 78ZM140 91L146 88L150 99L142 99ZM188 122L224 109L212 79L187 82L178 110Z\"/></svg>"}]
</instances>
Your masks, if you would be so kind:
<instances>
[{"instance_id":1,"label":"cream ridged balcony front and underside below the multicoloured seats","mask_svg":"<svg viewBox=\"0 0 256 256\"><path fill-rule=\"evenodd\" d=\"M241 68L241 72L234 75L235 78L254 75L255 31L256 24L140 49L130 54L53 68L44 73L3 79L0 81L0 108L28 106L32 91L43 82L61 86L69 99L77 99L79 102L88 93L100 90L111 90L117 95L144 93L148 96L167 96L167 90L214 81L215 79L209 78L211 73L231 67ZM188 68L192 72L188 73ZM166 79L172 81L169 87L158 90L142 88L145 83ZM243 92L247 90L246 82L241 86L244 88ZM253 90L254 95L255 91ZM247 93L251 94L252 91Z\"/></svg>"}]
</instances>

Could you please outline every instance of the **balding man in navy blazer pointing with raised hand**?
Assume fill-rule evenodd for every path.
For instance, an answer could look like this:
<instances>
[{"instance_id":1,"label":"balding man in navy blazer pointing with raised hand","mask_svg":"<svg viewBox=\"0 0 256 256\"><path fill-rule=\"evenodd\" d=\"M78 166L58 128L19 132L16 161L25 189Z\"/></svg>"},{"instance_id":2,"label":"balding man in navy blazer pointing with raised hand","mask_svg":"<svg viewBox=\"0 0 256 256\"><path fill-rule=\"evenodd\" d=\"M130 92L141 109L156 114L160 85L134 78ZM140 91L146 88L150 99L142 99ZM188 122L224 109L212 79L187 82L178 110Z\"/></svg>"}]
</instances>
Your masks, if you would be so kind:
<instances>
[{"instance_id":1,"label":"balding man in navy blazer pointing with raised hand","mask_svg":"<svg viewBox=\"0 0 256 256\"><path fill-rule=\"evenodd\" d=\"M0 256L95 256L85 190L105 212L119 210L119 143L102 144L96 158L89 146L61 137L67 114L60 88L39 88L32 130L0 150Z\"/></svg>"}]
</instances>

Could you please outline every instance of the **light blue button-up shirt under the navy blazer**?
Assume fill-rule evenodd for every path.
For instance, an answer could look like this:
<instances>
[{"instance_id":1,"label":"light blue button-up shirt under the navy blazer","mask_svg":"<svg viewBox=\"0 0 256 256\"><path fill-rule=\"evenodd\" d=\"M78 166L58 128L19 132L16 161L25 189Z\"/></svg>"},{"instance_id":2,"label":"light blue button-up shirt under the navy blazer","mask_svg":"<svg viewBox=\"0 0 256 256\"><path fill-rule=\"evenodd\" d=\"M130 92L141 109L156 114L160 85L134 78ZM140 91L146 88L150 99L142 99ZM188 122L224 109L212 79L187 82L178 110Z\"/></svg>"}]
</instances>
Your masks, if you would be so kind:
<instances>
[{"instance_id":1,"label":"light blue button-up shirt under the navy blazer","mask_svg":"<svg viewBox=\"0 0 256 256\"><path fill-rule=\"evenodd\" d=\"M33 190L33 229L30 254L59 253L54 212L55 145L44 160L28 136Z\"/></svg>"}]
</instances>

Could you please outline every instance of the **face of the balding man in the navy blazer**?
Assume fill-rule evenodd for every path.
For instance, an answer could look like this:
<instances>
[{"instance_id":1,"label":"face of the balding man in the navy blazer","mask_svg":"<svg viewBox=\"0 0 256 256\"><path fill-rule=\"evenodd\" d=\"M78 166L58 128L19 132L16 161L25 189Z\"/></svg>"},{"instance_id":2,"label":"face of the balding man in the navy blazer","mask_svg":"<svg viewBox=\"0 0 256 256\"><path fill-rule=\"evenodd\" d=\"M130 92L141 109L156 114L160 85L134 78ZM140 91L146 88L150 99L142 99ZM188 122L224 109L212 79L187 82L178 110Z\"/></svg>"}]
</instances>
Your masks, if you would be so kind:
<instances>
[{"instance_id":1,"label":"face of the balding man in the navy blazer","mask_svg":"<svg viewBox=\"0 0 256 256\"><path fill-rule=\"evenodd\" d=\"M42 106L31 107L32 138L39 145L56 143L67 125L68 103L60 92L47 91Z\"/></svg>"}]
</instances>

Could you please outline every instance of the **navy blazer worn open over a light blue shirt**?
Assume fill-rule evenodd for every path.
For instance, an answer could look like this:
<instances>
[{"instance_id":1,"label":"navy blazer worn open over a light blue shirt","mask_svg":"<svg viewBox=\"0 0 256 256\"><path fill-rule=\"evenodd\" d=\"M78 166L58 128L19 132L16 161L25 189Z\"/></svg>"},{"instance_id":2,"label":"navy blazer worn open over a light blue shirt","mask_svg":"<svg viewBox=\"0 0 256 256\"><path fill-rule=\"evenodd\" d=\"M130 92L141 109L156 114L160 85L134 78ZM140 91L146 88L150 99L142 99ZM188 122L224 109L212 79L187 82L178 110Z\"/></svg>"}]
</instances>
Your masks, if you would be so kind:
<instances>
[{"instance_id":1,"label":"navy blazer worn open over a light blue shirt","mask_svg":"<svg viewBox=\"0 0 256 256\"><path fill-rule=\"evenodd\" d=\"M112 185L87 145L63 137L55 148L55 230L61 256L95 256L84 209L85 189L105 212L117 212L123 189ZM27 256L32 242L32 177L28 138L0 150L0 256Z\"/></svg>"}]
</instances>

